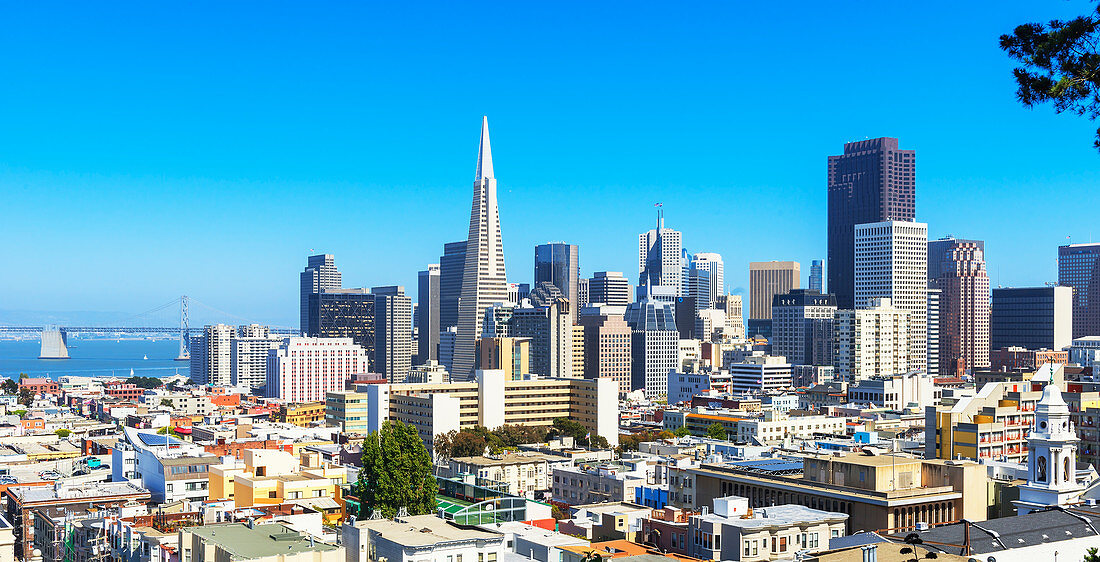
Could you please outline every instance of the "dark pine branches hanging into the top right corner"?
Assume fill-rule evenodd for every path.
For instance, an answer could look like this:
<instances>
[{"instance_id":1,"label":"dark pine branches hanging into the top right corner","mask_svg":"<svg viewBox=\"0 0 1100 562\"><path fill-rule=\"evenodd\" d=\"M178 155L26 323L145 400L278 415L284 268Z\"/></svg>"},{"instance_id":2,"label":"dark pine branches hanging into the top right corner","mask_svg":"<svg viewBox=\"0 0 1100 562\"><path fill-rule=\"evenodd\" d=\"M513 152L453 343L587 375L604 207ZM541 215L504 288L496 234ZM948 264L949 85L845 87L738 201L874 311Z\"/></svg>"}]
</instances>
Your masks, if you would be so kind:
<instances>
[{"instance_id":1,"label":"dark pine branches hanging into the top right corner","mask_svg":"<svg viewBox=\"0 0 1100 562\"><path fill-rule=\"evenodd\" d=\"M1100 115L1100 7L1069 21L1025 23L1001 35L1001 48L1021 63L1012 70L1024 107L1050 103L1090 121ZM1092 141L1100 150L1100 129Z\"/></svg>"}]
</instances>

